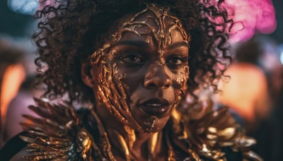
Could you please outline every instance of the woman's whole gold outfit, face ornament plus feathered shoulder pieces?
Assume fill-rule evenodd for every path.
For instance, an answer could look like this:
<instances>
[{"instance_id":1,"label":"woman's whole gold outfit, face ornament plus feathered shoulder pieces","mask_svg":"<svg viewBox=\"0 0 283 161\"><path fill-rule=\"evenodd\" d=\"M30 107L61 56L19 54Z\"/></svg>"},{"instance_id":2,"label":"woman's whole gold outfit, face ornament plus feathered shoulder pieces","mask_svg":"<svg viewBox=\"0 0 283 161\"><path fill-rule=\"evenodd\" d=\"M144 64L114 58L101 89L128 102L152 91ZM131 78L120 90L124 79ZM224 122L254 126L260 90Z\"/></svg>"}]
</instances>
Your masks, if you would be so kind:
<instances>
[{"instance_id":1,"label":"woman's whole gold outfit, face ornament plus feathered shoulder pieces","mask_svg":"<svg viewBox=\"0 0 283 161\"><path fill-rule=\"evenodd\" d=\"M124 32L135 35L136 38L142 35L147 43L151 39L155 41L158 59L154 59L151 64L163 70L167 68L163 59L164 51L174 41L172 32L175 32L175 37L178 33L182 41L177 42L185 42L186 49L190 44L190 35L187 35L180 20L170 13L169 8L146 4L143 11L125 21L112 35L112 39L92 54L91 67L97 69L94 76L91 75L93 84L96 84L92 87L95 87L96 102L102 108L107 108L117 119L115 121L123 124L127 139L115 129L103 125L96 114L99 107L76 112L67 102L52 105L36 99L38 107L31 106L30 109L41 118L25 115L33 124L22 124L28 134L21 138L30 147L25 149L28 153L24 155L26 159L115 160L111 150L111 146L115 146L124 154L125 160L131 160L130 152L136 141L134 131L154 133L157 117L150 115L146 120L137 121L129 108L128 87L123 81L128 73L120 74L117 70L119 66L108 62L109 57L118 54L111 47L120 42ZM168 114L170 119L162 130L158 129L149 139L149 160L154 160L154 151L160 137L168 148L167 160L227 160L227 150L241 155L243 160L261 160L250 150L255 140L243 135L241 127L236 124L227 107L213 109L208 106L203 107L201 112L194 112L191 105L179 104L181 96L187 90L187 61L183 62L175 75L170 84L174 91L169 94L174 95L171 115Z\"/></svg>"}]
</instances>

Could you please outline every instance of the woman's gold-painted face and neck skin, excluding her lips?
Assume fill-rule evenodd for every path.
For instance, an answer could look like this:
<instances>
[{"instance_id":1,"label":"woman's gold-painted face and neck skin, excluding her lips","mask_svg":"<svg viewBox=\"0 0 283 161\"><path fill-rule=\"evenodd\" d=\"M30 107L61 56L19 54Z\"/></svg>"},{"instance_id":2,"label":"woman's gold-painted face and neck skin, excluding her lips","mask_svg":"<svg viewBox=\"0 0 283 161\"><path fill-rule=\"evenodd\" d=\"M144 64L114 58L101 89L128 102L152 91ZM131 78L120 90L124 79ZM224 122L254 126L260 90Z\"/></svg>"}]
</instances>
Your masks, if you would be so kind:
<instances>
[{"instance_id":1,"label":"woman's gold-painted face and neck skin, excluding her lips","mask_svg":"<svg viewBox=\"0 0 283 161\"><path fill-rule=\"evenodd\" d=\"M147 158L147 141L153 133L161 131L166 125L180 97L185 93L188 78L187 35L184 35L183 28L174 28L164 39L156 39L160 29L168 31L176 21L167 17L161 28L160 23L149 18L158 19L154 12L158 8L151 9L152 11L144 11L139 16L136 15L134 19L134 22L146 21L146 26L139 25L134 30L125 30L120 35L119 32L127 26L119 28L116 36L120 36L120 39L113 44L105 44L104 47L110 46L106 56L99 57L99 61L93 59L93 66L89 72L91 76L85 74L82 76L86 85L93 88L93 93L96 93L95 99L98 100L96 112L108 129L108 133L115 129L129 142L129 131L125 130L125 126L134 130L135 138L132 147L129 147L130 155L139 160L140 156ZM128 22L124 18L118 23ZM165 44L164 40L170 42ZM100 49L98 52L102 54L101 51L104 50ZM93 55L98 54L95 52ZM86 65L83 65L83 68L86 68ZM115 102L120 99L125 100L125 103ZM157 108L144 105L144 102L150 99L166 100L168 104ZM151 114L144 111L144 109L150 111L150 108L164 112ZM161 148L161 143L159 137L155 152L166 156L166 150ZM112 149L117 158L122 155L120 150L115 148L115 143Z\"/></svg>"}]
</instances>

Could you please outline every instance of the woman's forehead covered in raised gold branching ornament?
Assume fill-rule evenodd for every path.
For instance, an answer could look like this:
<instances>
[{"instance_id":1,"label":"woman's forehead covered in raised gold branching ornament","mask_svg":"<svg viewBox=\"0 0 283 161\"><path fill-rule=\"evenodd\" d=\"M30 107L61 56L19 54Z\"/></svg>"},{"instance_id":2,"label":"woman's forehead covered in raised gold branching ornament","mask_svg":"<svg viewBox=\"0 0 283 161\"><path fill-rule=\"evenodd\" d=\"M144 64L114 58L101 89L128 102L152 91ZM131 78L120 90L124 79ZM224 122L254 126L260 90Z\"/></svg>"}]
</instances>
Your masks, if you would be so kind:
<instances>
[{"instance_id":1,"label":"woman's forehead covered in raised gold branching ornament","mask_svg":"<svg viewBox=\"0 0 283 161\"><path fill-rule=\"evenodd\" d=\"M169 12L169 8L146 4L143 11L127 18L127 20L121 19L119 23L122 25L112 35L111 40L91 56L93 64L100 62L101 58L108 55L112 47L122 41L131 42L134 40L154 45L158 54L161 55L168 45L175 44L175 42L185 43L187 47L189 44L188 40L190 39L188 39L183 25L178 18Z\"/></svg>"}]
</instances>

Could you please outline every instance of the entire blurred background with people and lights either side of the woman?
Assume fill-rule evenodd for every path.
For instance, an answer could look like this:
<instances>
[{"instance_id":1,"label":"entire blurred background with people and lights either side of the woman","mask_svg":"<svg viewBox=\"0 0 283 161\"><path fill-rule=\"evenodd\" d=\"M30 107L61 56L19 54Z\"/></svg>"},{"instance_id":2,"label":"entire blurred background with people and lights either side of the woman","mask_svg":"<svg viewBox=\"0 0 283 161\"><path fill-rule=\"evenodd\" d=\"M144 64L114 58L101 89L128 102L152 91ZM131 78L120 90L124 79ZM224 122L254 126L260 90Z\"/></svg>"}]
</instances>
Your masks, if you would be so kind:
<instances>
[{"instance_id":1,"label":"entire blurred background with people and lights either side of the woman","mask_svg":"<svg viewBox=\"0 0 283 161\"><path fill-rule=\"evenodd\" d=\"M21 131L21 114L29 113L35 77L38 0L0 1L0 136L4 141ZM219 84L215 102L241 117L248 136L258 140L255 152L265 160L283 158L283 1L226 0L236 23L231 30L233 64ZM244 27L243 27L244 25ZM1 145L0 145L1 146Z\"/></svg>"}]
</instances>

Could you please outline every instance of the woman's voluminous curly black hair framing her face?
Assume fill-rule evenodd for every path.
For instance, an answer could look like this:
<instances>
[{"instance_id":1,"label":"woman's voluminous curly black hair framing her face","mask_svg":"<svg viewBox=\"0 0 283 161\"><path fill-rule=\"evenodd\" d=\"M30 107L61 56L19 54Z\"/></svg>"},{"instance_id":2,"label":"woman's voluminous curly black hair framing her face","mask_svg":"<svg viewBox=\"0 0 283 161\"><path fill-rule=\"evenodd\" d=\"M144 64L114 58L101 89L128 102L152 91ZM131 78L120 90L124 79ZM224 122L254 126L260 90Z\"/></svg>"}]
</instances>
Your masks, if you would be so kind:
<instances>
[{"instance_id":1,"label":"woman's voluminous curly black hair framing her face","mask_svg":"<svg viewBox=\"0 0 283 161\"><path fill-rule=\"evenodd\" d=\"M115 20L144 9L145 3L170 7L190 35L188 93L201 86L212 86L231 62L227 30L233 20L221 4L224 0L56 0L59 5L37 11L38 30L35 60L40 82L46 85L45 97L67 94L69 101L91 101L93 91L81 80L81 62L102 47ZM218 21L216 21L218 20ZM108 37L109 38L109 37Z\"/></svg>"}]
</instances>

